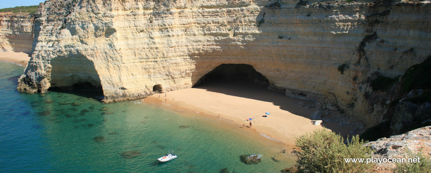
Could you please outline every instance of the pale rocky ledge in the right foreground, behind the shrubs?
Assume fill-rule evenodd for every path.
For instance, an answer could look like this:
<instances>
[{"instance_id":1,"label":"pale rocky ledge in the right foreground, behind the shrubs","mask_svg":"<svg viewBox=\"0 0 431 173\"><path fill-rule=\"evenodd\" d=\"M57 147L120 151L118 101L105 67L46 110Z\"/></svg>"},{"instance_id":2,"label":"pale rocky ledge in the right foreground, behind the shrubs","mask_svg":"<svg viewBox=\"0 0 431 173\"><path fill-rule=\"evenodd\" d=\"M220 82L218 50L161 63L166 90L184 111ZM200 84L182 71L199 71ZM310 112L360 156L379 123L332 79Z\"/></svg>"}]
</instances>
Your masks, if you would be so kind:
<instances>
[{"instance_id":1,"label":"pale rocky ledge in the right foreground, behind the shrubs","mask_svg":"<svg viewBox=\"0 0 431 173\"><path fill-rule=\"evenodd\" d=\"M411 130L407 133L383 137L377 141L369 142L364 146L370 146L376 152L373 158L407 158L406 149L416 153L422 152L425 156L431 156L431 126ZM381 163L382 166L394 168L395 164Z\"/></svg>"}]
</instances>

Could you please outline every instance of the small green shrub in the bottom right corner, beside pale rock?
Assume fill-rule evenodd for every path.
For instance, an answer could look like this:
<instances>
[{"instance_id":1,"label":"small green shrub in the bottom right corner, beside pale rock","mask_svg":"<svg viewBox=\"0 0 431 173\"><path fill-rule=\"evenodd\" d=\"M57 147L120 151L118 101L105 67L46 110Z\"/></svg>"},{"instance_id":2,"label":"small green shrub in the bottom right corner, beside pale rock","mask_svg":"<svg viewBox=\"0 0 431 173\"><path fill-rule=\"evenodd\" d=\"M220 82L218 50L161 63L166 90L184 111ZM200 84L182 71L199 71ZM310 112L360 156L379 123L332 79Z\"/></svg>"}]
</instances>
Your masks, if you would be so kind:
<instances>
[{"instance_id":1,"label":"small green shrub in the bottom right corner, beside pale rock","mask_svg":"<svg viewBox=\"0 0 431 173\"><path fill-rule=\"evenodd\" d=\"M396 164L394 173L431 173L431 160L424 156L421 151L414 153L410 149L406 149L405 158L419 158L420 163L399 163Z\"/></svg>"}]
</instances>

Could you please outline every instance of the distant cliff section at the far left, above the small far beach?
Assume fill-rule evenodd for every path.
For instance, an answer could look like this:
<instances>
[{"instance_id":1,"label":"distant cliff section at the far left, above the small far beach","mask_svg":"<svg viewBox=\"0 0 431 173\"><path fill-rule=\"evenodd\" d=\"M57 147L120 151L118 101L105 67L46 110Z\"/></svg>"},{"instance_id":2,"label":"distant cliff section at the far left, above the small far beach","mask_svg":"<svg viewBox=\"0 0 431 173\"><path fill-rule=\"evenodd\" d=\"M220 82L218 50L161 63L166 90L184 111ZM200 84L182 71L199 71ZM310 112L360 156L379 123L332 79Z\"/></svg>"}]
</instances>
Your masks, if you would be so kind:
<instances>
[{"instance_id":1,"label":"distant cliff section at the far left, above the small far beach","mask_svg":"<svg viewBox=\"0 0 431 173\"><path fill-rule=\"evenodd\" d=\"M33 19L28 13L0 13L0 52L31 53Z\"/></svg>"}]
</instances>

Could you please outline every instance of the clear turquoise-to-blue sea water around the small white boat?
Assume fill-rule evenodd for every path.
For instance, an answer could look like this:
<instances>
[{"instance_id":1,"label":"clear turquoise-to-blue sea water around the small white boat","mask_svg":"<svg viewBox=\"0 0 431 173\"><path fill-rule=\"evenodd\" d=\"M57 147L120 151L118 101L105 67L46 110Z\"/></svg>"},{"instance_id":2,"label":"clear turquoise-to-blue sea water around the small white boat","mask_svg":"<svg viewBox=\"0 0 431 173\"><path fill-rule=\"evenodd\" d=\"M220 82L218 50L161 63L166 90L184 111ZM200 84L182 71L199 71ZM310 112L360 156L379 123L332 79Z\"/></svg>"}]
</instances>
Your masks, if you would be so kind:
<instances>
[{"instance_id":1,"label":"clear turquoise-to-blue sea water around the small white boat","mask_svg":"<svg viewBox=\"0 0 431 173\"><path fill-rule=\"evenodd\" d=\"M279 173L292 164L251 137L140 101L19 93L22 72L0 62L0 173ZM158 163L168 149L178 158ZM260 154L262 162L243 164L243 154Z\"/></svg>"}]
</instances>

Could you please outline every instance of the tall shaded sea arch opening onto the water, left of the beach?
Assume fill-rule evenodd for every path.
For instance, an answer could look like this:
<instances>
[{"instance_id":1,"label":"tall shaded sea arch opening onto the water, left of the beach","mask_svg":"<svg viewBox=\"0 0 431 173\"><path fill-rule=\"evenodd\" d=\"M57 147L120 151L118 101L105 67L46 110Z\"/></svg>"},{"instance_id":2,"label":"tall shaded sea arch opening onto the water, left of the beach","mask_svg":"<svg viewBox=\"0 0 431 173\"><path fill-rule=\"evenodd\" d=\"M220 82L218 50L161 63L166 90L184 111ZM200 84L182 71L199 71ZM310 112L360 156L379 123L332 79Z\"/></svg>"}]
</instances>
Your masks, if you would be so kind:
<instances>
[{"instance_id":1,"label":"tall shaded sea arch opening onto the water, left of the beach","mask_svg":"<svg viewBox=\"0 0 431 173\"><path fill-rule=\"evenodd\" d=\"M50 84L48 90L74 91L84 96L103 97L101 80L94 63L83 55L51 59Z\"/></svg>"}]
</instances>

